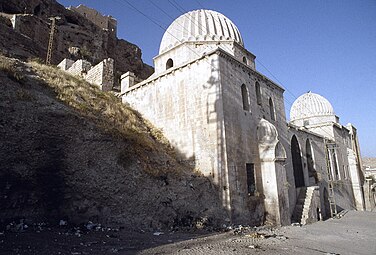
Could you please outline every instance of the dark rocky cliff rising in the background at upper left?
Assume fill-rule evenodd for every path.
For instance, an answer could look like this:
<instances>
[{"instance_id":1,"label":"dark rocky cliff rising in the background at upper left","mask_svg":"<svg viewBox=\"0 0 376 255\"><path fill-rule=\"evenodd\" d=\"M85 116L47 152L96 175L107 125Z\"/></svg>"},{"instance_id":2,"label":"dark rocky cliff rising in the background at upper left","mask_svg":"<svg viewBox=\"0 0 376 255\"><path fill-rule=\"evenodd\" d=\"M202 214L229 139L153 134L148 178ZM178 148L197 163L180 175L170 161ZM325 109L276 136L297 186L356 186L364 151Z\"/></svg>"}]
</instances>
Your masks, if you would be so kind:
<instances>
[{"instance_id":1,"label":"dark rocky cliff rising in the background at upper left","mask_svg":"<svg viewBox=\"0 0 376 255\"><path fill-rule=\"evenodd\" d=\"M153 68L143 63L139 47L117 38L116 27L114 30L101 28L55 0L0 1L0 52L22 59L45 59L49 18L54 16L61 19L57 21L53 64L64 58L84 58L95 65L105 58L113 58L117 77L132 71L145 79L153 73Z\"/></svg>"}]
</instances>

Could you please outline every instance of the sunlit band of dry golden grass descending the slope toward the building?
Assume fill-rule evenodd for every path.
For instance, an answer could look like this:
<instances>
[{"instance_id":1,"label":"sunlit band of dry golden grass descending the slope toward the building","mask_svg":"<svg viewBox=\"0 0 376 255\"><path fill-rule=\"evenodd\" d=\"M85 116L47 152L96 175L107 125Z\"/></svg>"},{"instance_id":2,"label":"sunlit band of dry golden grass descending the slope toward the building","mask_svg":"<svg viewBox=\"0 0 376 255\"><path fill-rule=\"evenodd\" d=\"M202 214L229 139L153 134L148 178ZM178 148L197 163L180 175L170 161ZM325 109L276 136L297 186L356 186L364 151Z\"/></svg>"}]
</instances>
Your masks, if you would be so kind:
<instances>
[{"instance_id":1,"label":"sunlit band of dry golden grass descending the slope toward the building","mask_svg":"<svg viewBox=\"0 0 376 255\"><path fill-rule=\"evenodd\" d=\"M161 154L175 158L176 153L162 132L153 127L140 113L109 92L102 92L96 86L85 80L67 74L57 68L30 62L33 71L52 87L57 98L78 110L82 115L94 120L99 127L113 136L126 139L132 143L132 149L138 158L149 161L148 152L159 151ZM126 155L126 154L124 154ZM125 157L129 157L125 156ZM179 168L173 164L173 168ZM145 164L145 171L152 175L171 172L170 166L160 166L159 169ZM177 169L173 170L176 172Z\"/></svg>"}]
</instances>

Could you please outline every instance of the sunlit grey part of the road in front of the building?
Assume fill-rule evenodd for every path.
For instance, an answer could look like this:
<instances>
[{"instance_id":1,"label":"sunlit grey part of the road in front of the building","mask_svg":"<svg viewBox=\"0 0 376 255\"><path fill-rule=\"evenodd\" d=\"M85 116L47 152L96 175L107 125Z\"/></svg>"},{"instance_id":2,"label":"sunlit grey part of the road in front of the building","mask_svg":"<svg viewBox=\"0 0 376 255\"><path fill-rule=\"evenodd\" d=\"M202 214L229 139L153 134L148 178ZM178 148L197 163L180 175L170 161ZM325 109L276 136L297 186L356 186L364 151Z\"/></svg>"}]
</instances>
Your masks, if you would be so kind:
<instances>
[{"instance_id":1,"label":"sunlit grey part of the road in front of the building","mask_svg":"<svg viewBox=\"0 0 376 255\"><path fill-rule=\"evenodd\" d=\"M376 212L350 211L303 227L228 232L144 250L138 254L376 254Z\"/></svg>"}]
</instances>

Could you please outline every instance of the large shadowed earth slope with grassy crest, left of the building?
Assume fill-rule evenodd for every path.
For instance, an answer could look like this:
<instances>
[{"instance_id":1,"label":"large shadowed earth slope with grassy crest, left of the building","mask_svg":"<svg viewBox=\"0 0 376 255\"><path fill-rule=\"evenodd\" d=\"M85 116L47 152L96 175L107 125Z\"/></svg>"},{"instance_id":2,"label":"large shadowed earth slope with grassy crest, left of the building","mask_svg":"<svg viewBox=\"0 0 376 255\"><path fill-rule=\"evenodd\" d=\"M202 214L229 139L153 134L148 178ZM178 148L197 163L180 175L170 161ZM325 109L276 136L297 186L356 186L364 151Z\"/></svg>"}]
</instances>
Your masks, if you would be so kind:
<instances>
[{"instance_id":1,"label":"large shadowed earth slope with grassy crest, left of the building","mask_svg":"<svg viewBox=\"0 0 376 255\"><path fill-rule=\"evenodd\" d=\"M226 219L211 182L110 93L0 57L0 219L158 229Z\"/></svg>"}]
</instances>

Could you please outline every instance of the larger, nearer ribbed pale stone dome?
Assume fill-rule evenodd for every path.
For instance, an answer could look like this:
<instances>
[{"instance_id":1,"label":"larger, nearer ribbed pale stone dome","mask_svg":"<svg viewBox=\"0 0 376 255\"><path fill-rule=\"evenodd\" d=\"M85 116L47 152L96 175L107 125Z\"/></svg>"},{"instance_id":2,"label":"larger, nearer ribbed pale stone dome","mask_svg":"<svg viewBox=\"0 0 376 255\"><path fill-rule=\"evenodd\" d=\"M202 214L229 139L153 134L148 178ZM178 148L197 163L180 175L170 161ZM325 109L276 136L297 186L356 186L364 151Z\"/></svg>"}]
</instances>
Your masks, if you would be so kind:
<instances>
[{"instance_id":1,"label":"larger, nearer ribbed pale stone dome","mask_svg":"<svg viewBox=\"0 0 376 255\"><path fill-rule=\"evenodd\" d=\"M223 14L210 10L196 10L178 17L167 28L159 54L187 41L232 40L243 45L238 28Z\"/></svg>"}]
</instances>

